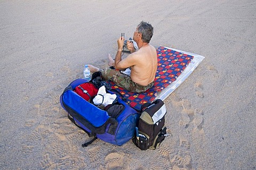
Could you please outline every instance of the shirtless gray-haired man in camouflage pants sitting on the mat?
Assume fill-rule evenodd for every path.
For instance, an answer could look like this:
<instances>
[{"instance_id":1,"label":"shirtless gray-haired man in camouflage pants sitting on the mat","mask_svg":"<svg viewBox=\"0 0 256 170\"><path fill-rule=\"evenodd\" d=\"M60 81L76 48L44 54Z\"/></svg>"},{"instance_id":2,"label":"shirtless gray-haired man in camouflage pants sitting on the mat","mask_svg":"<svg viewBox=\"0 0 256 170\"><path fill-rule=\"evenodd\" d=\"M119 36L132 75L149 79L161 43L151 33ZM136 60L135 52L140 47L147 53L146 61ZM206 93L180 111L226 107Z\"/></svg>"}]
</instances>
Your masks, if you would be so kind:
<instances>
[{"instance_id":1,"label":"shirtless gray-haired man in camouflage pants sitting on the mat","mask_svg":"<svg viewBox=\"0 0 256 170\"><path fill-rule=\"evenodd\" d=\"M130 50L131 54L123 60L124 37L117 40L118 50L114 67L117 70L130 67L130 76L114 69L99 69L89 65L91 72L101 71L103 79L111 80L117 86L132 92L144 92L153 87L157 70L157 54L155 47L149 44L152 36L153 27L151 24L141 21L133 34L133 40L137 43L139 50L135 52L133 43L127 41L127 49Z\"/></svg>"}]
</instances>

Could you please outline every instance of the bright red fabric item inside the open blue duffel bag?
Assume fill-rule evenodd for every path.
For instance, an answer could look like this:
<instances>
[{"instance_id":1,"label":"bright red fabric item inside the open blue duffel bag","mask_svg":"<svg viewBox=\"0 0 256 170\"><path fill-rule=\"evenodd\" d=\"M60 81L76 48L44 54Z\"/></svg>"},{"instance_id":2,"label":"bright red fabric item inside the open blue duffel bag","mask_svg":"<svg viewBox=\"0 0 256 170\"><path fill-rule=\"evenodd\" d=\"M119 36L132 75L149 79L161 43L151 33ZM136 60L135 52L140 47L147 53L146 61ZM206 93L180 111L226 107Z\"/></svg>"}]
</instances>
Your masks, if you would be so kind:
<instances>
[{"instance_id":1,"label":"bright red fabric item inside the open blue duffel bag","mask_svg":"<svg viewBox=\"0 0 256 170\"><path fill-rule=\"evenodd\" d=\"M84 89L84 90L87 90L87 92L91 95L91 97L97 95L99 89L97 89L93 83L90 83L90 82L86 82L86 83L83 83L83 84L80 84L80 86ZM75 88L74 90L79 96L81 96L82 98L84 98L85 100L89 100L90 97L85 94L83 92L83 90L81 88L79 88L78 86Z\"/></svg>"}]
</instances>

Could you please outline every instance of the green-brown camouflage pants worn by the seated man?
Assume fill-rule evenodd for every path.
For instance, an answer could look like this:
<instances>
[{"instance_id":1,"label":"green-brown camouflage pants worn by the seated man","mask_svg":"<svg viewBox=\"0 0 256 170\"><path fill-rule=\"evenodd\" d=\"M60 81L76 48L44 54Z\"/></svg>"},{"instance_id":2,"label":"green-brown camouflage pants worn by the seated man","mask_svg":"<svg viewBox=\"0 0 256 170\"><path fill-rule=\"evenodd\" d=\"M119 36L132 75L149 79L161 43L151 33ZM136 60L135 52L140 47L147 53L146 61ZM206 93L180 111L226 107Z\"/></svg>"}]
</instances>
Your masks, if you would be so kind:
<instances>
[{"instance_id":1,"label":"green-brown camouflage pants worn by the seated man","mask_svg":"<svg viewBox=\"0 0 256 170\"><path fill-rule=\"evenodd\" d=\"M154 81L148 84L148 86L141 86L134 83L129 75L123 74L115 69L102 69L102 78L105 80L113 81L117 86L122 87L131 92L145 92L154 85Z\"/></svg>"}]
</instances>

